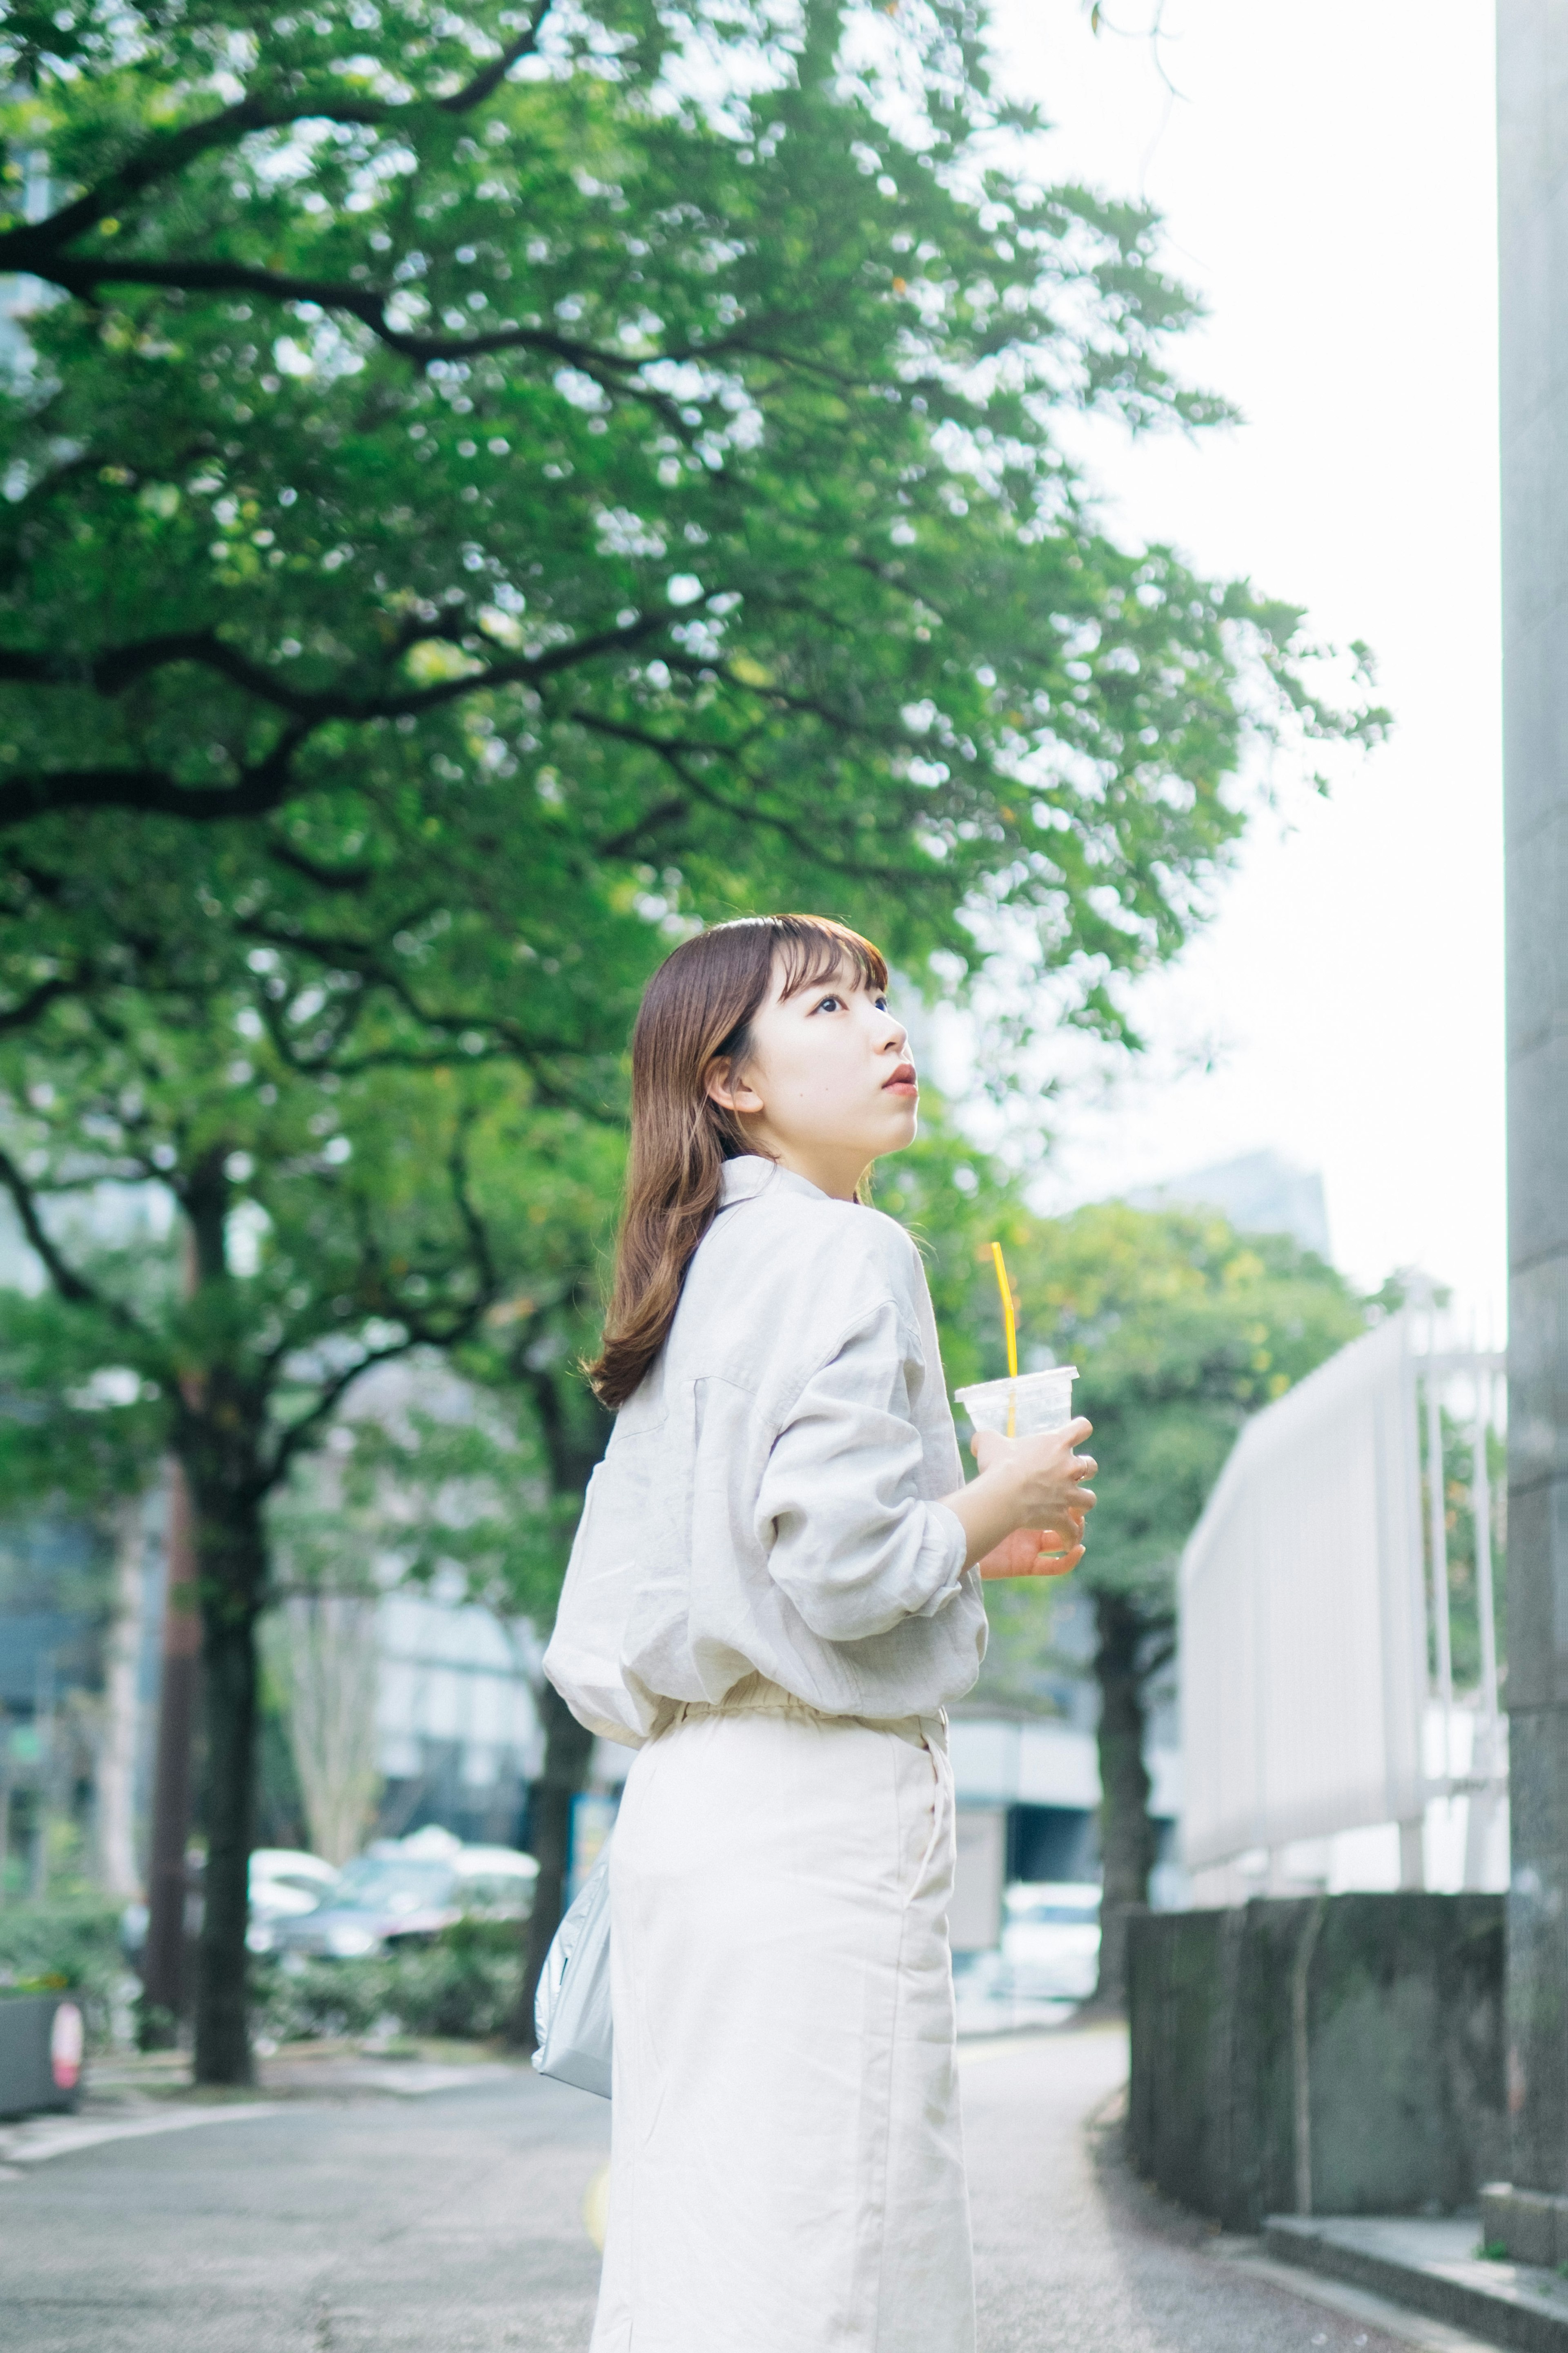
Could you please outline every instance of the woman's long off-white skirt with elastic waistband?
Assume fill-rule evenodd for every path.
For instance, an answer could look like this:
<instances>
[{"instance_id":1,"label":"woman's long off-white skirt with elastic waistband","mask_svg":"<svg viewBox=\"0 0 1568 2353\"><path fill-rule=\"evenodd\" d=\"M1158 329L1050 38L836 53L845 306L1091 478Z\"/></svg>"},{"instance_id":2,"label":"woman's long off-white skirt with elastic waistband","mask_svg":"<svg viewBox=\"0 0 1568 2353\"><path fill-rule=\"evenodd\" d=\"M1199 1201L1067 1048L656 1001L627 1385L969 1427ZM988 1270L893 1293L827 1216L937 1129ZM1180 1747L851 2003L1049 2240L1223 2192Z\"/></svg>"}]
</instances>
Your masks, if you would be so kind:
<instances>
[{"instance_id":1,"label":"woman's long off-white skirt with elastic waistband","mask_svg":"<svg viewBox=\"0 0 1568 2353\"><path fill-rule=\"evenodd\" d=\"M592 2353L973 2353L938 1718L752 1678L637 1753Z\"/></svg>"}]
</instances>

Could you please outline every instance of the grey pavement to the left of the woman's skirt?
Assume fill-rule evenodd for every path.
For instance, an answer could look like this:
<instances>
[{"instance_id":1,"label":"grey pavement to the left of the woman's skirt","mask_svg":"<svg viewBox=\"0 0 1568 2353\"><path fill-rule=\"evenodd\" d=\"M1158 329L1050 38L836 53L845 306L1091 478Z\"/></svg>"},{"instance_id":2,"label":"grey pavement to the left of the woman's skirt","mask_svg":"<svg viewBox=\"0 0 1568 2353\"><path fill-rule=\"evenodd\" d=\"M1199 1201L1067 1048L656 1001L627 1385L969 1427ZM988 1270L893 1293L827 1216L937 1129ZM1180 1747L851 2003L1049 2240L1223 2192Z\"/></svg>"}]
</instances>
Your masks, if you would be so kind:
<instances>
[{"instance_id":1,"label":"grey pavement to the left of the woman's skirt","mask_svg":"<svg viewBox=\"0 0 1568 2353\"><path fill-rule=\"evenodd\" d=\"M583 2353L609 2108L517 2071L0 2181L7 2353Z\"/></svg>"}]
</instances>

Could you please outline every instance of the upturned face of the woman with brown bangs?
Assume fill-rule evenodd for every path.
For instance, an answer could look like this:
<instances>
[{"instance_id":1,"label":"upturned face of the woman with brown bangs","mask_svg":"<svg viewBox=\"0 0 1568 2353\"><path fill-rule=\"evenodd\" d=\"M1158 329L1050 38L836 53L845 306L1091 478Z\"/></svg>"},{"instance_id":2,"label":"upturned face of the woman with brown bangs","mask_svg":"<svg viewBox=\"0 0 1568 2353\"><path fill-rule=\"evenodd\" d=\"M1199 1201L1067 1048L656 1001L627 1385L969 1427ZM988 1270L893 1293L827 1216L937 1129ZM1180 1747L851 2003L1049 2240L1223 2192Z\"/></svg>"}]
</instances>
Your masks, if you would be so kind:
<instances>
[{"instance_id":1,"label":"upturned face of the woman with brown bangs","mask_svg":"<svg viewBox=\"0 0 1568 2353\"><path fill-rule=\"evenodd\" d=\"M790 998L780 988L773 967L745 1064L715 1061L708 1092L738 1113L755 1151L849 1200L872 1160L914 1141L910 1040L853 967Z\"/></svg>"}]
</instances>

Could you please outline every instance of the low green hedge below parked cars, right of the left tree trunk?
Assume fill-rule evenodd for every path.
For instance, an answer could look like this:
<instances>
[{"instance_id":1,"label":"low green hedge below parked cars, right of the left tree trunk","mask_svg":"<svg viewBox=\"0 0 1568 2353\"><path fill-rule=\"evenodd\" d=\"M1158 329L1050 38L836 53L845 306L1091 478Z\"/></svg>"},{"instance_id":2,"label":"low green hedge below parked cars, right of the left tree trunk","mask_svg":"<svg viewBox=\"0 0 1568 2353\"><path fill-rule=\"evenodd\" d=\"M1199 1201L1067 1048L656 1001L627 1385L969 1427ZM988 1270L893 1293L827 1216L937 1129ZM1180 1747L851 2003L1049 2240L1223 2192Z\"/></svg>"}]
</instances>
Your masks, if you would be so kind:
<instances>
[{"instance_id":1,"label":"low green hedge below parked cars, right of the left tree trunk","mask_svg":"<svg viewBox=\"0 0 1568 2353\"><path fill-rule=\"evenodd\" d=\"M273 2042L367 2035L386 2021L404 2035L482 2040L505 2028L520 1986L517 1925L458 1920L428 1946L376 1960L256 1962L252 2024Z\"/></svg>"}]
</instances>

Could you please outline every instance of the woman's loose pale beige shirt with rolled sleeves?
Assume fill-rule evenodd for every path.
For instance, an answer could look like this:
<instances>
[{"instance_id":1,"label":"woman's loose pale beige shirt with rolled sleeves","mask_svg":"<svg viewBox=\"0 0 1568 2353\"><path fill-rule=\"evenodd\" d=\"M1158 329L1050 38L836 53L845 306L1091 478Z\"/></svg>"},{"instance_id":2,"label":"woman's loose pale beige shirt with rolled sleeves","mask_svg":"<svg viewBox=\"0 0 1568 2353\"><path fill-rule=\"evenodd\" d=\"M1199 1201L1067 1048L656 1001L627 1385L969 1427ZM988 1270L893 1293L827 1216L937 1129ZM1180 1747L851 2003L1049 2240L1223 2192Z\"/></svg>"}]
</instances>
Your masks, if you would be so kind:
<instances>
[{"instance_id":1,"label":"woman's loose pale beige shirt with rolled sleeves","mask_svg":"<svg viewBox=\"0 0 1568 2353\"><path fill-rule=\"evenodd\" d=\"M931 1715L985 1654L926 1273L891 1217L731 1160L670 1337L588 1485L545 1673L639 1746L766 1675Z\"/></svg>"}]
</instances>

